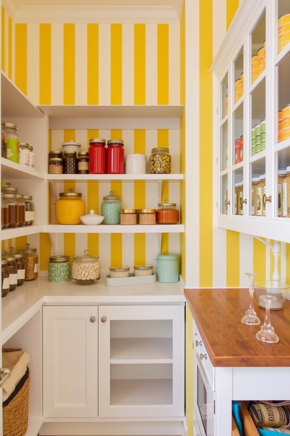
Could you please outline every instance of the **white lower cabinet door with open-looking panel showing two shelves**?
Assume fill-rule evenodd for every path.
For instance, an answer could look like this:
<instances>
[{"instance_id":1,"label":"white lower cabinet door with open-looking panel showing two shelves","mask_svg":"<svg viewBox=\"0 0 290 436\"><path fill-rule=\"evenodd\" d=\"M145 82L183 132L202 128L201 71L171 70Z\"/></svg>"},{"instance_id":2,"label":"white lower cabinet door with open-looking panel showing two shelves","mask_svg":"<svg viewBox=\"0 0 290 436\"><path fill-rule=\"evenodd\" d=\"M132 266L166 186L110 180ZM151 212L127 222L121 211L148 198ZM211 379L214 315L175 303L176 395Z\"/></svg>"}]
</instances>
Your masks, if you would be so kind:
<instances>
[{"instance_id":1,"label":"white lower cabinet door with open-looking panel showing two shelves","mask_svg":"<svg viewBox=\"0 0 290 436\"><path fill-rule=\"evenodd\" d=\"M99 417L184 416L184 306L99 311Z\"/></svg>"}]
</instances>

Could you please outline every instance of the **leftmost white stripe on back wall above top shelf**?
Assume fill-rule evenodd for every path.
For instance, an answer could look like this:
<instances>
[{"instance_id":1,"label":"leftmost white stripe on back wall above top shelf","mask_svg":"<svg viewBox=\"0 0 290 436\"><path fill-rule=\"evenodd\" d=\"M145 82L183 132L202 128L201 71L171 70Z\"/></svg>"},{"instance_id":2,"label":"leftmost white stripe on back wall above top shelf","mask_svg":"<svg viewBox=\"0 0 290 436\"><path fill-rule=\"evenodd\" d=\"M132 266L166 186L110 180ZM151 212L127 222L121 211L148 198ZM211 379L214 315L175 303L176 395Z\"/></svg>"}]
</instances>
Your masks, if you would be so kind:
<instances>
[{"instance_id":1,"label":"leftmost white stripe on back wall above top shelf","mask_svg":"<svg viewBox=\"0 0 290 436\"><path fill-rule=\"evenodd\" d=\"M27 24L27 97L39 104L39 24Z\"/></svg>"}]
</instances>

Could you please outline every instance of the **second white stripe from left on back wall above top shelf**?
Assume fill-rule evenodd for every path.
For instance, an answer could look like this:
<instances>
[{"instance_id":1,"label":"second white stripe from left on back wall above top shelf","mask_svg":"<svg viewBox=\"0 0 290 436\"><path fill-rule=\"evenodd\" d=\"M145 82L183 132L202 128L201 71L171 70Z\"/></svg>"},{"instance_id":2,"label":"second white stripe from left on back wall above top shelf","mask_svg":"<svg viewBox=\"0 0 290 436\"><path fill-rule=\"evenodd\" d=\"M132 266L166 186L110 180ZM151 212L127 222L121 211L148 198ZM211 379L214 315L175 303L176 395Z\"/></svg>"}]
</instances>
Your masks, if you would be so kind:
<instances>
[{"instance_id":1,"label":"second white stripe from left on back wall above top shelf","mask_svg":"<svg viewBox=\"0 0 290 436\"><path fill-rule=\"evenodd\" d=\"M51 24L51 104L63 105L63 24Z\"/></svg>"}]
</instances>

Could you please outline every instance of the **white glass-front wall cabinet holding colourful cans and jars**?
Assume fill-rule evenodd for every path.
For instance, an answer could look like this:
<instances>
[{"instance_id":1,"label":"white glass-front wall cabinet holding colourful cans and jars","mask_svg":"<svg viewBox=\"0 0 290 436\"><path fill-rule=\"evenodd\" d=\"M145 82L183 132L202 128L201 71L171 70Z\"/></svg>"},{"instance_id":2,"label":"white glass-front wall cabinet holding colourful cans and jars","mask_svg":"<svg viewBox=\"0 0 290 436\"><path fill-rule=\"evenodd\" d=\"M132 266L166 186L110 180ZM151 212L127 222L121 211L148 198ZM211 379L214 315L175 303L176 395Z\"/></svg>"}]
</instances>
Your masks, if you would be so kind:
<instances>
[{"instance_id":1,"label":"white glass-front wall cabinet holding colourful cans and jars","mask_svg":"<svg viewBox=\"0 0 290 436\"><path fill-rule=\"evenodd\" d=\"M289 1L243 0L211 66L218 226L284 242L290 242L289 41Z\"/></svg>"}]
</instances>

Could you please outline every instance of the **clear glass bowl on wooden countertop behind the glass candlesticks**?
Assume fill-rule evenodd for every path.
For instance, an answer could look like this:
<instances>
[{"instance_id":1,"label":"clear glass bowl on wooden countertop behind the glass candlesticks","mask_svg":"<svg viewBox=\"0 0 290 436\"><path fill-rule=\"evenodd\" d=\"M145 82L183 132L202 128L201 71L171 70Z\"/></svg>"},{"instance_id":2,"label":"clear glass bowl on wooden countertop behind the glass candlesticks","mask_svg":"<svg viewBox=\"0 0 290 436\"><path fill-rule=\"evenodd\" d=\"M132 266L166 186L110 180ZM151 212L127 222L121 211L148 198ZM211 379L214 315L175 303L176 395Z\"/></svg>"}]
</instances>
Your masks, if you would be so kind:
<instances>
[{"instance_id":1,"label":"clear glass bowl on wooden countertop behind the glass candlesticks","mask_svg":"<svg viewBox=\"0 0 290 436\"><path fill-rule=\"evenodd\" d=\"M265 309L265 302L260 299L261 295L272 295L277 298L270 306L270 310L283 309L283 305L287 300L290 285L282 282L270 282L267 280L254 282L254 291L260 307Z\"/></svg>"}]
</instances>

